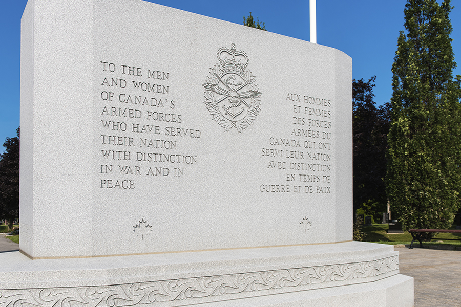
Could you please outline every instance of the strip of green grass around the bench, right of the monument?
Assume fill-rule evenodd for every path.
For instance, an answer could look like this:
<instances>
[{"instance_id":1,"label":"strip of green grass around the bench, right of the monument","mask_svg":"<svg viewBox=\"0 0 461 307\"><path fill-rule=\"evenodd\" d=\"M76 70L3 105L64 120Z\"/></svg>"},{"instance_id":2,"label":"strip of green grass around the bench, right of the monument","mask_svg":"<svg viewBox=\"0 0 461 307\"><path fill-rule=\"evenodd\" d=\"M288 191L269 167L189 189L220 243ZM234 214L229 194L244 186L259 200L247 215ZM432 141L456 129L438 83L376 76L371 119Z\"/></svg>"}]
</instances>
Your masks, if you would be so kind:
<instances>
[{"instance_id":1,"label":"strip of green grass around the bench, right of the monument","mask_svg":"<svg viewBox=\"0 0 461 307\"><path fill-rule=\"evenodd\" d=\"M364 226L362 231L365 232L364 241L365 242L374 242L381 244L410 244L413 237L410 233L387 233L389 225L387 224L373 224L371 226ZM428 245L439 245L439 244L449 244L449 245L461 245L460 241L452 241L445 239L458 239L461 240L461 235L453 233L437 233L435 235L436 240L431 242L425 242L424 244ZM420 244L415 242L414 244Z\"/></svg>"}]
</instances>

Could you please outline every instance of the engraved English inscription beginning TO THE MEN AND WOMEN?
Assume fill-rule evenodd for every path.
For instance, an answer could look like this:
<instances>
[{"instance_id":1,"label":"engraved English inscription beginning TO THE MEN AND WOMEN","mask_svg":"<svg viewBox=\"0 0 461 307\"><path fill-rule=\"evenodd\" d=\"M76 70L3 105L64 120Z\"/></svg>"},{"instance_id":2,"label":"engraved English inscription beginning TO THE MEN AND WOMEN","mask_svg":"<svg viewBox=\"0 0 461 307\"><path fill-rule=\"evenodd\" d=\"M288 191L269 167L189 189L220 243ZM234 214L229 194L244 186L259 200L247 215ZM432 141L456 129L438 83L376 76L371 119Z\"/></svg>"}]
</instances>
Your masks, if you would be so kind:
<instances>
[{"instance_id":1,"label":"engraved English inscription beginning TO THE MEN AND WOMEN","mask_svg":"<svg viewBox=\"0 0 461 307\"><path fill-rule=\"evenodd\" d=\"M202 131L188 125L173 97L173 74L110 61L97 67L99 188L132 190L185 176L199 161L191 144Z\"/></svg>"}]
</instances>

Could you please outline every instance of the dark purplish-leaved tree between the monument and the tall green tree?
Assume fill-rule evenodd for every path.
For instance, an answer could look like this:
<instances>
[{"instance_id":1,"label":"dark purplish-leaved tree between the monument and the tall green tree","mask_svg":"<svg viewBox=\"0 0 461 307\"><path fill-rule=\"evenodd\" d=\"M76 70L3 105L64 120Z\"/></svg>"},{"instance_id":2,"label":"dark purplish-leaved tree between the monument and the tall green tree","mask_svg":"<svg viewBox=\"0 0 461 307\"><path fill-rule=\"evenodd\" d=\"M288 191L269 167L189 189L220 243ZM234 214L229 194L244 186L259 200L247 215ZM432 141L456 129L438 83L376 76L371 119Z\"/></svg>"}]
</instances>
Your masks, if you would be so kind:
<instances>
[{"instance_id":1,"label":"dark purplish-leaved tree between the monument and the tall green tree","mask_svg":"<svg viewBox=\"0 0 461 307\"><path fill-rule=\"evenodd\" d=\"M367 82L352 82L353 207L380 218L387 210L386 176L389 104L376 108L373 87L376 76Z\"/></svg>"}]
</instances>

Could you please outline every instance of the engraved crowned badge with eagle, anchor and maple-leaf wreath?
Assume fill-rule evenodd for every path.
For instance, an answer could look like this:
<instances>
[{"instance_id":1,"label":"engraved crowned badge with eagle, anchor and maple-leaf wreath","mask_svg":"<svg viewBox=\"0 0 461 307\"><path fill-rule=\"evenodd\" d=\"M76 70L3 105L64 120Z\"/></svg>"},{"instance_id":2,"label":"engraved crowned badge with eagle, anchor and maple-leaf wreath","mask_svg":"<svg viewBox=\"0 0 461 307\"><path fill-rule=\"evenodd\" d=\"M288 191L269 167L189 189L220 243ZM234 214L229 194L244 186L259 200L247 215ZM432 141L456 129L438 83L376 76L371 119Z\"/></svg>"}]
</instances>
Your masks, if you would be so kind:
<instances>
[{"instance_id":1,"label":"engraved crowned badge with eagle, anchor and maple-leaf wreath","mask_svg":"<svg viewBox=\"0 0 461 307\"><path fill-rule=\"evenodd\" d=\"M236 51L235 44L231 50L220 48L218 60L203 84L206 108L225 131L235 127L242 133L261 111L261 93L255 84L255 76L246 70L248 56L243 51Z\"/></svg>"}]
</instances>

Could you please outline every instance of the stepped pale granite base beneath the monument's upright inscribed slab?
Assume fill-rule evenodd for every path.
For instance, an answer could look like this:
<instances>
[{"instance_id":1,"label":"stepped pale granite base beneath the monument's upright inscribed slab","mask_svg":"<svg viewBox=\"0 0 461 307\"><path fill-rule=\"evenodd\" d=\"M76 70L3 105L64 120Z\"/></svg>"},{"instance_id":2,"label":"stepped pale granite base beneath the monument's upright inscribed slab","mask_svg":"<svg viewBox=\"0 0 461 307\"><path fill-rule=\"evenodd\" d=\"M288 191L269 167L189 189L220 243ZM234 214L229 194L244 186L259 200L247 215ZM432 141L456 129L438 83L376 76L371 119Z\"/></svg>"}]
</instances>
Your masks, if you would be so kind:
<instances>
[{"instance_id":1,"label":"stepped pale granite base beneath the monument's upright inscribed slab","mask_svg":"<svg viewBox=\"0 0 461 307\"><path fill-rule=\"evenodd\" d=\"M327 306L348 300L355 306L390 307L413 302L413 280L399 274L398 253L372 243L39 260L13 252L0 259L6 305Z\"/></svg>"}]
</instances>

